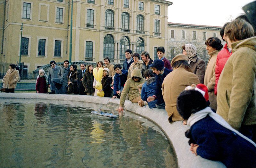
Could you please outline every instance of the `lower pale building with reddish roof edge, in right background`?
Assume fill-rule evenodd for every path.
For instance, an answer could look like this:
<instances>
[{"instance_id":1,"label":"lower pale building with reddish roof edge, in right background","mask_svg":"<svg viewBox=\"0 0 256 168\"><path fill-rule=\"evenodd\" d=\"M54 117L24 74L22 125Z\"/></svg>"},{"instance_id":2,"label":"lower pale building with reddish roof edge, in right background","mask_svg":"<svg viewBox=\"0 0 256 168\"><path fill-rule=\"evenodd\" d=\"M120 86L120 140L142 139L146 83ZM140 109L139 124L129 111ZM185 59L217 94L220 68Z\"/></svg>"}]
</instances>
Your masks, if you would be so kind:
<instances>
[{"instance_id":1,"label":"lower pale building with reddish roof edge, in right background","mask_svg":"<svg viewBox=\"0 0 256 168\"><path fill-rule=\"evenodd\" d=\"M182 53L182 45L193 44L197 48L197 55L208 61L206 45L204 42L209 37L218 37L222 45L225 41L220 37L218 26L191 25L168 22L168 59Z\"/></svg>"}]
</instances>

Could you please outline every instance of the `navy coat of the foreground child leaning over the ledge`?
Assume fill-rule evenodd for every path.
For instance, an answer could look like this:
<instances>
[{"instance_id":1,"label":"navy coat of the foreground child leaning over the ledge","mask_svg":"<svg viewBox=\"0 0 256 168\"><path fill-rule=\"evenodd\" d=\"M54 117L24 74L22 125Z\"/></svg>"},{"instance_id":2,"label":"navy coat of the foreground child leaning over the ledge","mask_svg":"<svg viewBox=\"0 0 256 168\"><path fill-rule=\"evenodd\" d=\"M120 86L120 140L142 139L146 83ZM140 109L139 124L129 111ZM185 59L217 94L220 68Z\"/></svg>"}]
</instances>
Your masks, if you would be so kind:
<instances>
[{"instance_id":1,"label":"navy coat of the foreground child leaning over the ledge","mask_svg":"<svg viewBox=\"0 0 256 168\"><path fill-rule=\"evenodd\" d=\"M199 145L197 155L221 161L227 168L256 167L256 147L209 115L190 128L191 141Z\"/></svg>"}]
</instances>

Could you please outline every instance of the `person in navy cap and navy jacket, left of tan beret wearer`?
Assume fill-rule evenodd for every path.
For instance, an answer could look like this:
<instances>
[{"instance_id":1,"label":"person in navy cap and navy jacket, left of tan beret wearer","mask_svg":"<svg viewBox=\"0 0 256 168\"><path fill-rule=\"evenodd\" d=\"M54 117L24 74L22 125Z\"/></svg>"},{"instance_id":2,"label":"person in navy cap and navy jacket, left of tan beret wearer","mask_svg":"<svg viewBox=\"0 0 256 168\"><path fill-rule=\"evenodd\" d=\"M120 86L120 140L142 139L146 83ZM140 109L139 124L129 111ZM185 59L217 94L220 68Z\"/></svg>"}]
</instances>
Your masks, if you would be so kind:
<instances>
[{"instance_id":1,"label":"person in navy cap and navy jacket, left of tan beret wearer","mask_svg":"<svg viewBox=\"0 0 256 168\"><path fill-rule=\"evenodd\" d=\"M154 60L153 64L149 65L152 68L153 72L156 73L156 90L153 96L149 96L147 101L151 102L155 99L156 107L159 109L165 109L164 98L162 95L162 83L166 75L168 75L172 70L169 70L164 67L164 62L161 59Z\"/></svg>"}]
</instances>

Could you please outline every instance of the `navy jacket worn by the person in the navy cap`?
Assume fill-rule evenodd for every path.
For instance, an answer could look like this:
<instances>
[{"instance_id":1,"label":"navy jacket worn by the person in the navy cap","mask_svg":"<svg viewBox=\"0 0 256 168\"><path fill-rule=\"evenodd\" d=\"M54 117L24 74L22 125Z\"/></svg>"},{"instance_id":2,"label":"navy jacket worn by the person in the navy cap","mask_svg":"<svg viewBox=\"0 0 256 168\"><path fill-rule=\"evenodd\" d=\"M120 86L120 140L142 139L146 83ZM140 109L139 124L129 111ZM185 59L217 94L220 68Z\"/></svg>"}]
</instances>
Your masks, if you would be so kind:
<instances>
[{"instance_id":1,"label":"navy jacket worn by the person in the navy cap","mask_svg":"<svg viewBox=\"0 0 256 168\"><path fill-rule=\"evenodd\" d=\"M164 98L162 95L162 83L164 81L164 78L170 73L172 72L172 70L169 70L167 68L164 68L164 73L161 75L156 75L156 90L154 95L156 95L156 100L157 103L156 104L161 104L164 103Z\"/></svg>"}]
</instances>

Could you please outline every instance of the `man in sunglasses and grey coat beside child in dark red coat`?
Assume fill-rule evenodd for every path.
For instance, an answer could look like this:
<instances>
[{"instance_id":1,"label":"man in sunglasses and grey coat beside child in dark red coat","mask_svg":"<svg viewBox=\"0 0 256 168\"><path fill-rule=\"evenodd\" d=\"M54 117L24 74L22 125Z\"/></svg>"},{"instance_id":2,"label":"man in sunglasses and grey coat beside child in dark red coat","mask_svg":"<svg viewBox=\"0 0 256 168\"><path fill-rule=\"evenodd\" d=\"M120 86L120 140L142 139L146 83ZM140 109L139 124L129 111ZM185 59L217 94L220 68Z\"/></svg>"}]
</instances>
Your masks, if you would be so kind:
<instances>
[{"instance_id":1,"label":"man in sunglasses and grey coat beside child in dark red coat","mask_svg":"<svg viewBox=\"0 0 256 168\"><path fill-rule=\"evenodd\" d=\"M49 93L55 93L56 87L53 87L53 85L51 85L52 79L53 78L58 78L58 73L60 71L60 66L56 65L56 62L54 60L52 60L50 62L51 68L49 68L48 72L48 88L50 88L51 92Z\"/></svg>"}]
</instances>

